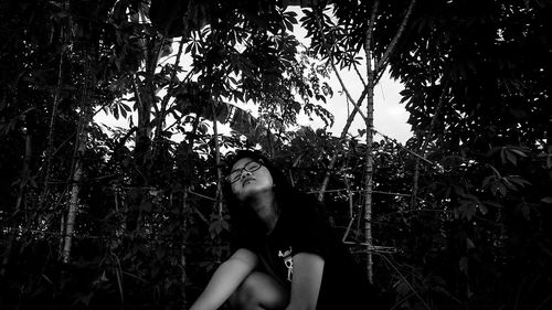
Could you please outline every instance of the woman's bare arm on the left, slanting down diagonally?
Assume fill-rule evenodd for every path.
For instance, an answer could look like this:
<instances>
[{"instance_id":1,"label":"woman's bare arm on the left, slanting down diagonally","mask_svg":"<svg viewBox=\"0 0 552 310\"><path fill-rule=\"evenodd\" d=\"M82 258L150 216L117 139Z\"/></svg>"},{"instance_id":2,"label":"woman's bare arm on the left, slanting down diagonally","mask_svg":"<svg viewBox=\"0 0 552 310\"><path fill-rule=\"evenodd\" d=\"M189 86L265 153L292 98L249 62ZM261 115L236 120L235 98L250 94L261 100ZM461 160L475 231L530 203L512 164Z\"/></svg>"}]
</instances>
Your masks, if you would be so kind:
<instances>
[{"instance_id":1,"label":"woman's bare arm on the left, slanting down diagonally","mask_svg":"<svg viewBox=\"0 0 552 310\"><path fill-rule=\"evenodd\" d=\"M237 249L221 264L190 310L215 310L236 290L257 266L257 256L245 248Z\"/></svg>"}]
</instances>

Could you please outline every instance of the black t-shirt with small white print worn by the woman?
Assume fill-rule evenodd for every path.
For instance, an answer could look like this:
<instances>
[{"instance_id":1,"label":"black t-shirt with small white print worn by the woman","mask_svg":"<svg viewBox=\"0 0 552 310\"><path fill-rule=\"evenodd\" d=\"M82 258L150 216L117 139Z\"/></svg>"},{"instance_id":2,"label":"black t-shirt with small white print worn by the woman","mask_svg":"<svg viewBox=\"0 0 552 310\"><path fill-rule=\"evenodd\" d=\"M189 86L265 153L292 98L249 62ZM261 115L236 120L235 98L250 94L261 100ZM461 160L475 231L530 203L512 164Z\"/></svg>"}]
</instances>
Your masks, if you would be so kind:
<instances>
[{"instance_id":1,"label":"black t-shirt with small white print worn by the woman","mask_svg":"<svg viewBox=\"0 0 552 310\"><path fill-rule=\"evenodd\" d=\"M325 260L317 310L375 309L369 307L375 295L348 248L339 240L320 205L298 200L282 207L273 232L263 237L242 236L240 247L254 252L261 269L290 289L293 256L319 255ZM372 300L375 301L375 300Z\"/></svg>"}]
</instances>

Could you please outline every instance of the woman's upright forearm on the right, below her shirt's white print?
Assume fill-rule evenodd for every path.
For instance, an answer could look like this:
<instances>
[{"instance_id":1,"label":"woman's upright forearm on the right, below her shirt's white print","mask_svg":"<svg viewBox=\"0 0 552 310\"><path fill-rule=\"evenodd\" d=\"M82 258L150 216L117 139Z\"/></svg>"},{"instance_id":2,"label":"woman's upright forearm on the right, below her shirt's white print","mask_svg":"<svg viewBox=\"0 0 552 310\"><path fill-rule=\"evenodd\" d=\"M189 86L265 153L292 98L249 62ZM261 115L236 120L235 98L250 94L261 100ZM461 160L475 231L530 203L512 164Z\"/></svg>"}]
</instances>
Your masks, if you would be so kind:
<instances>
[{"instance_id":1,"label":"woman's upright forearm on the right, below her shirt's white print","mask_svg":"<svg viewBox=\"0 0 552 310\"><path fill-rule=\"evenodd\" d=\"M286 310L314 310L322 282L323 258L316 254L298 253L294 256L291 297Z\"/></svg>"}]
</instances>

